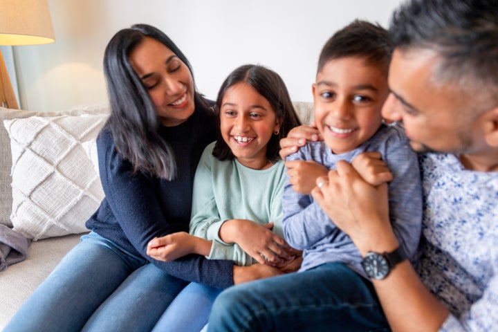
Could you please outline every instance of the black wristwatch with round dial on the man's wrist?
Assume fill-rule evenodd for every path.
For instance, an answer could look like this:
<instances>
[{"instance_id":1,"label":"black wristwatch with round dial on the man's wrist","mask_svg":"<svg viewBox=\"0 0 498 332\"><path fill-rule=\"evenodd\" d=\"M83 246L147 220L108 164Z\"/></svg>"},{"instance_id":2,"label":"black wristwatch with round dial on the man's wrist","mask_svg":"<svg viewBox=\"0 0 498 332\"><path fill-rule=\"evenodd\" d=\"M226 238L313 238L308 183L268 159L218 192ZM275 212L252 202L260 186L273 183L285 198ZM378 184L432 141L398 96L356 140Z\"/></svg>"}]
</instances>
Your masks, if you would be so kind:
<instances>
[{"instance_id":1,"label":"black wristwatch with round dial on the man's wrist","mask_svg":"<svg viewBox=\"0 0 498 332\"><path fill-rule=\"evenodd\" d=\"M384 279L389 275L396 264L407 259L405 252L401 248L396 248L391 252L369 251L363 257L362 266L365 273L373 279Z\"/></svg>"}]
</instances>

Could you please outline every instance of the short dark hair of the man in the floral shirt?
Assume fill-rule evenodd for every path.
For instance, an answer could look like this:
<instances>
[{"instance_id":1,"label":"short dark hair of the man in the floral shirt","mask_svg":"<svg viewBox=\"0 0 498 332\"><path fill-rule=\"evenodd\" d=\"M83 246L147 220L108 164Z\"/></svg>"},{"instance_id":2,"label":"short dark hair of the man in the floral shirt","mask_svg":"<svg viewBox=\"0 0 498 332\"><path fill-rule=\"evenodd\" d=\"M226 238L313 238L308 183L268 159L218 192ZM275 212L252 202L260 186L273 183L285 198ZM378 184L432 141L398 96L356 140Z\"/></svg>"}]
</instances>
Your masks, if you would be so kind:
<instances>
[{"instance_id":1,"label":"short dark hair of the man in the floral shirt","mask_svg":"<svg viewBox=\"0 0 498 332\"><path fill-rule=\"evenodd\" d=\"M439 84L487 90L498 102L498 0L409 1L394 12L389 36L400 50L436 51Z\"/></svg>"}]
</instances>

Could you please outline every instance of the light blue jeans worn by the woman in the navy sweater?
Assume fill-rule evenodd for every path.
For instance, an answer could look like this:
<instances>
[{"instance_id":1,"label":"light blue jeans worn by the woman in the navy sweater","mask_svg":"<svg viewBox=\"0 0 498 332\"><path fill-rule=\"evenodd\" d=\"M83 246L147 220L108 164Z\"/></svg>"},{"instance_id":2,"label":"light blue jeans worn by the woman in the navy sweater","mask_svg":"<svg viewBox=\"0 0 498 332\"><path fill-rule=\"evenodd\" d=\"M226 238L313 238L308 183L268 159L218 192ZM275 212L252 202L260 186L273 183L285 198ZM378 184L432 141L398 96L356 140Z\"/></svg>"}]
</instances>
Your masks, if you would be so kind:
<instances>
[{"instance_id":1,"label":"light blue jeans worn by the woman in the navy sweater","mask_svg":"<svg viewBox=\"0 0 498 332\"><path fill-rule=\"evenodd\" d=\"M150 331L186 285L91 232L4 331Z\"/></svg>"}]
</instances>

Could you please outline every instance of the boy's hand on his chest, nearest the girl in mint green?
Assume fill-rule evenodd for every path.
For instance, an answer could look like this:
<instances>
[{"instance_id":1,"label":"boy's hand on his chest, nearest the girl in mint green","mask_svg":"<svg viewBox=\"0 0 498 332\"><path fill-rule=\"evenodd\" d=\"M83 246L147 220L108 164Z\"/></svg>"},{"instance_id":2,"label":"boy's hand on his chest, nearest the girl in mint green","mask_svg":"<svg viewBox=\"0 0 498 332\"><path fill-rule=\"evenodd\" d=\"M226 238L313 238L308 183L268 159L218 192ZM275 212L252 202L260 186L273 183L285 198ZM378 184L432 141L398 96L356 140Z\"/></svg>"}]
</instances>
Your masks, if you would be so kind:
<instances>
[{"instance_id":1,"label":"boy's hand on his chest, nearest the girl in mint green","mask_svg":"<svg viewBox=\"0 0 498 332\"><path fill-rule=\"evenodd\" d=\"M329 169L313 160L290 160L285 163L289 183L299 194L309 195L318 176L326 176Z\"/></svg>"}]
</instances>

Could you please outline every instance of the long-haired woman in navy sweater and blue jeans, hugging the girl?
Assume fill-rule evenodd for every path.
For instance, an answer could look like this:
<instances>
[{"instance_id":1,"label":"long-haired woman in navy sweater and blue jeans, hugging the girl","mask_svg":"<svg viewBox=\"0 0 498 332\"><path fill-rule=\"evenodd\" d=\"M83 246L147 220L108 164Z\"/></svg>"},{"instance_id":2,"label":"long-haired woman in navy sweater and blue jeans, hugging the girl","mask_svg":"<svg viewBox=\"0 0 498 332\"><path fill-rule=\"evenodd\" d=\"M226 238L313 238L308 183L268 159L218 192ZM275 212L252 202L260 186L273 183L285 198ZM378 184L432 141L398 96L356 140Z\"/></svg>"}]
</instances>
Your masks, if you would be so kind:
<instances>
[{"instance_id":1,"label":"long-haired woman in navy sweater and blue jeans, hugging the girl","mask_svg":"<svg viewBox=\"0 0 498 332\"><path fill-rule=\"evenodd\" d=\"M150 331L188 282L226 288L279 273L198 255L147 256L151 239L188 231L194 173L216 124L187 58L154 27L116 33L104 74L111 116L97 145L105 198L86 223L90 234L5 331Z\"/></svg>"}]
</instances>

